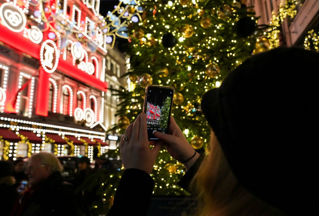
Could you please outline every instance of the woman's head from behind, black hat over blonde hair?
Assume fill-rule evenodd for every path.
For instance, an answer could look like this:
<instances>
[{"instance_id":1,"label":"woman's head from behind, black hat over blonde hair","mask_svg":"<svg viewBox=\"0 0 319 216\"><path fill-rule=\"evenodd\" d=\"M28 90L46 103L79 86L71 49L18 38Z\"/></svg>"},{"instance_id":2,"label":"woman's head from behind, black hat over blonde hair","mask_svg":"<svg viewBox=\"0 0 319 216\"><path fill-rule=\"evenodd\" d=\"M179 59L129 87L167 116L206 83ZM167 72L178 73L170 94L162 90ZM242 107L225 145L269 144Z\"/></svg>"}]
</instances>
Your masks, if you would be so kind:
<instances>
[{"instance_id":1,"label":"woman's head from behind, black hat over blonde hair","mask_svg":"<svg viewBox=\"0 0 319 216\"><path fill-rule=\"evenodd\" d=\"M316 206L319 53L249 58L201 108L211 142L194 182L202 215L304 215ZM307 213L308 212L308 213Z\"/></svg>"}]
</instances>

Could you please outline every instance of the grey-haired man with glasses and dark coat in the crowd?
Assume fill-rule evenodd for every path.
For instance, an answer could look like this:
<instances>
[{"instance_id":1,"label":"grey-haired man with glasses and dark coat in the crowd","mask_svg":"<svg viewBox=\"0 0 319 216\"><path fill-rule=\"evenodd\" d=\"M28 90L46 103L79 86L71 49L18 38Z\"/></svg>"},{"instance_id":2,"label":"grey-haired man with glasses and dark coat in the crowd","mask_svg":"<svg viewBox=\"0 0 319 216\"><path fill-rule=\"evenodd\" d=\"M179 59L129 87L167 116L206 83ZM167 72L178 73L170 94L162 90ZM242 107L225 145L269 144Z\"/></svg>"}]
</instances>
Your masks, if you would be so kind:
<instances>
[{"instance_id":1,"label":"grey-haired man with glasses and dark coat in the crowd","mask_svg":"<svg viewBox=\"0 0 319 216\"><path fill-rule=\"evenodd\" d=\"M18 198L11 215L78 215L73 186L63 182L61 172L54 154L33 154L26 169L30 188Z\"/></svg>"}]
</instances>

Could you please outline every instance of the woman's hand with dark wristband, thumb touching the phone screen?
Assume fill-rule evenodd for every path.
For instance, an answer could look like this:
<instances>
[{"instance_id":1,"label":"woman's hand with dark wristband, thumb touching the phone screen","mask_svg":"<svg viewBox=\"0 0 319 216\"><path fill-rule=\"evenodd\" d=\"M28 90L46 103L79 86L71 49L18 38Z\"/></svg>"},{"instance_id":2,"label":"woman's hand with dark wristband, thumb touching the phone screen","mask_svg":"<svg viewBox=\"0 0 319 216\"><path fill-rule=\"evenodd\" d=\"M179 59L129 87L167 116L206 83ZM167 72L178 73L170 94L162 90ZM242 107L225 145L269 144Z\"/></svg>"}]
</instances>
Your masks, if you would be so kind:
<instances>
[{"instance_id":1,"label":"woman's hand with dark wristband, thumb touching the phone screen","mask_svg":"<svg viewBox=\"0 0 319 216\"><path fill-rule=\"evenodd\" d=\"M195 150L187 142L183 132L176 124L173 116L171 116L167 134L154 131L154 136L156 136L160 140L156 143L161 143L162 145L164 145L168 153L177 161L186 161L195 153ZM186 169L189 169L189 167L195 163L198 157L199 154L196 153L195 157L184 163Z\"/></svg>"}]
</instances>

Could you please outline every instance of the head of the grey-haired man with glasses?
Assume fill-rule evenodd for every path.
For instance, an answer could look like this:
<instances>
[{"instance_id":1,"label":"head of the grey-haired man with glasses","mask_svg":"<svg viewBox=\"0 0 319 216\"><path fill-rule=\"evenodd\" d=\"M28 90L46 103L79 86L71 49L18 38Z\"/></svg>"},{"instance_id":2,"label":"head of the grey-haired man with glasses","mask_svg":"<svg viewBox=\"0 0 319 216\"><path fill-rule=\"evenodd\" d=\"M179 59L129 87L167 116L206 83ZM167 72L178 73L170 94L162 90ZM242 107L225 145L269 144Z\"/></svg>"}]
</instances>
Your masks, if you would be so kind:
<instances>
[{"instance_id":1,"label":"head of the grey-haired man with glasses","mask_svg":"<svg viewBox=\"0 0 319 216\"><path fill-rule=\"evenodd\" d=\"M48 179L54 172L61 173L62 170L63 167L54 154L42 151L32 155L26 174L29 177L29 183L35 186Z\"/></svg>"}]
</instances>

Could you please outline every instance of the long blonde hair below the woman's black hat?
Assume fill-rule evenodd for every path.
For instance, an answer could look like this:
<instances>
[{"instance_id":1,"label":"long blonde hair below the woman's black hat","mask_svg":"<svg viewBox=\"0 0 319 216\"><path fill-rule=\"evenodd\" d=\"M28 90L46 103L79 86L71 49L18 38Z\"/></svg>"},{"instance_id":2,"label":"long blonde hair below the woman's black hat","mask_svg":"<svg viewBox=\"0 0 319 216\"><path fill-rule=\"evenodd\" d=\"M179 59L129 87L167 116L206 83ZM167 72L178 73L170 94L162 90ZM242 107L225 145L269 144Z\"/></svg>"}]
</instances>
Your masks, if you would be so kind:
<instances>
[{"instance_id":1,"label":"long blonde hair below the woman's black hat","mask_svg":"<svg viewBox=\"0 0 319 216\"><path fill-rule=\"evenodd\" d=\"M238 182L213 132L209 148L192 182L199 192L199 215L285 215Z\"/></svg>"}]
</instances>

